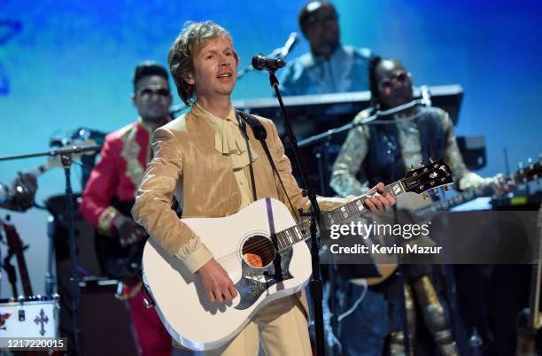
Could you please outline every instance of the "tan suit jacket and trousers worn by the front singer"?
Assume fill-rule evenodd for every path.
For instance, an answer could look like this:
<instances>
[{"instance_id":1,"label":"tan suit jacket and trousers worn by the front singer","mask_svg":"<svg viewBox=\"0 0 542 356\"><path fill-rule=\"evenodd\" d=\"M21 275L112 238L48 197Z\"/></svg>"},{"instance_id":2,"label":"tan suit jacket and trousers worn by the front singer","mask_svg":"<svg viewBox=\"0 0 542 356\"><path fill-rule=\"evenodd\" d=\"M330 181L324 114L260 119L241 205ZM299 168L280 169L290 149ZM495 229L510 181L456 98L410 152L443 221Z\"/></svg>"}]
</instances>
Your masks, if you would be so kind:
<instances>
[{"instance_id":1,"label":"tan suit jacket and trousers worn by the front singer","mask_svg":"<svg viewBox=\"0 0 542 356\"><path fill-rule=\"evenodd\" d=\"M192 111L159 128L154 134L154 158L143 176L132 210L136 221L166 252L181 258L196 272L211 253L194 232L171 209L173 196L182 204L183 217L223 217L239 210L241 193L230 159L215 150L215 132L201 112ZM258 118L267 131L267 146L288 192L294 209L307 209L306 197L291 174L290 160L284 155L275 125ZM290 208L265 151L247 127L250 147L256 159L252 163L257 198L274 197ZM252 192L251 180L248 180ZM319 197L321 210L344 204L344 199ZM297 213L291 212L291 213ZM183 253L179 253L183 251ZM182 307L180 301L180 307ZM310 355L305 295L282 298L264 307L247 327L225 347L209 354L258 354L258 336L270 355ZM212 328L212 326L210 326Z\"/></svg>"}]
</instances>

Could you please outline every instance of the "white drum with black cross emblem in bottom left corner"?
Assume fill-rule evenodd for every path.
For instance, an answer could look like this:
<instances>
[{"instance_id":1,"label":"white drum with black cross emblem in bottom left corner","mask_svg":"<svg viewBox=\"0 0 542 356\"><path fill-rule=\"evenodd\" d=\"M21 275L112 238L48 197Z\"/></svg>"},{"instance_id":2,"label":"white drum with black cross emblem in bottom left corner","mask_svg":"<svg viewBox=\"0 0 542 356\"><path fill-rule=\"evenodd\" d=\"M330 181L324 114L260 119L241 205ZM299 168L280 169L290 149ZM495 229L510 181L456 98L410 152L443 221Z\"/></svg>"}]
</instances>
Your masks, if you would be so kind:
<instances>
[{"instance_id":1,"label":"white drum with black cross emblem in bottom left corner","mask_svg":"<svg viewBox=\"0 0 542 356\"><path fill-rule=\"evenodd\" d=\"M58 294L0 299L0 337L58 337Z\"/></svg>"}]
</instances>

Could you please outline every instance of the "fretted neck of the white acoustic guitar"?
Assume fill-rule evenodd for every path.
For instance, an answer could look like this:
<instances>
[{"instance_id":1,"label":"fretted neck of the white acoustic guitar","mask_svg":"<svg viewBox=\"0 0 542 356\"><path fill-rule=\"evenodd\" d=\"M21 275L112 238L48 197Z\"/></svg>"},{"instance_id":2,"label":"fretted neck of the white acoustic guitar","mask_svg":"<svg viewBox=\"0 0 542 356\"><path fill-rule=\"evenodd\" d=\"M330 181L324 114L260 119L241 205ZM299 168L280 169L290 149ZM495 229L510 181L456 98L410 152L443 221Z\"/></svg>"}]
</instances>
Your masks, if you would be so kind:
<instances>
[{"instance_id":1,"label":"fretted neck of the white acoustic guitar","mask_svg":"<svg viewBox=\"0 0 542 356\"><path fill-rule=\"evenodd\" d=\"M393 197L397 197L406 192L401 181L391 183L384 187L384 191L390 193ZM324 228L330 228L331 225L340 224L344 221L350 221L356 217L367 216L370 210L365 205L365 199L371 197L372 193L358 197L345 205L341 205L329 212L321 213L321 224ZM293 244L305 241L311 237L311 221L301 221L297 225L287 228L275 234L275 244L279 251L283 251ZM320 232L320 228L316 226L316 231Z\"/></svg>"}]
</instances>

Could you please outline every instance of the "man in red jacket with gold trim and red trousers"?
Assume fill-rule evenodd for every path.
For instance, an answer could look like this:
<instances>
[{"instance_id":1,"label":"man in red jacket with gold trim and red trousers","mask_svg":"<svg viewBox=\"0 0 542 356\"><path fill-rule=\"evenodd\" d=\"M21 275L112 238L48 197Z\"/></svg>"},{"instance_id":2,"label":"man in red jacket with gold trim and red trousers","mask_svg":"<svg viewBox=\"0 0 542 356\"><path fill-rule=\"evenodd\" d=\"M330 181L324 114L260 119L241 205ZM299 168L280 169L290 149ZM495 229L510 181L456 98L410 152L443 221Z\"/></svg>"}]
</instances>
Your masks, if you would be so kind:
<instances>
[{"instance_id":1,"label":"man in red jacket with gold trim and red trousers","mask_svg":"<svg viewBox=\"0 0 542 356\"><path fill-rule=\"evenodd\" d=\"M146 234L129 215L136 189L151 160L151 135L172 118L166 68L144 61L136 66L132 101L139 118L105 138L100 159L82 193L80 211L102 235L118 238L128 249L141 244ZM154 308L143 305L142 282L136 278L120 285L119 298L128 299L141 355L171 355L171 337Z\"/></svg>"}]
</instances>

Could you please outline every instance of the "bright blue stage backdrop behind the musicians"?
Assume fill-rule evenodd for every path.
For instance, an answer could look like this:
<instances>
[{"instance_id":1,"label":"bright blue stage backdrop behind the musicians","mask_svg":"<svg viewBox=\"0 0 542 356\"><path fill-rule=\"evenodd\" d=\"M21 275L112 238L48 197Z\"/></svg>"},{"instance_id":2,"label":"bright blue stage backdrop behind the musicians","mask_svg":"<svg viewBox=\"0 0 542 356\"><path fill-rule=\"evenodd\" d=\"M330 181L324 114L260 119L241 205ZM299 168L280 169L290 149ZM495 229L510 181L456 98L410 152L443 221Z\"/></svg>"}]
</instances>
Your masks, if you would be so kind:
<instances>
[{"instance_id":1,"label":"bright blue stage backdrop behind the musicians","mask_svg":"<svg viewBox=\"0 0 542 356\"><path fill-rule=\"evenodd\" d=\"M0 0L0 155L43 151L51 137L75 128L111 131L136 119L130 94L134 66L166 65L187 20L213 19L235 39L241 65L283 45L298 31L302 1ZM335 1L343 43L399 58L417 85L459 83L465 89L459 135L485 135L488 164L505 169L538 155L542 111L541 3L533 1ZM302 41L293 51L307 50ZM173 84L173 83L172 83ZM238 82L235 99L268 97L265 74ZM176 103L179 99L175 98ZM0 163L0 182L43 159ZM74 169L74 189L80 172ZM57 169L39 179L37 200L62 193ZM35 292L43 293L46 213L12 214L27 250ZM8 296L5 278L2 296Z\"/></svg>"}]
</instances>

